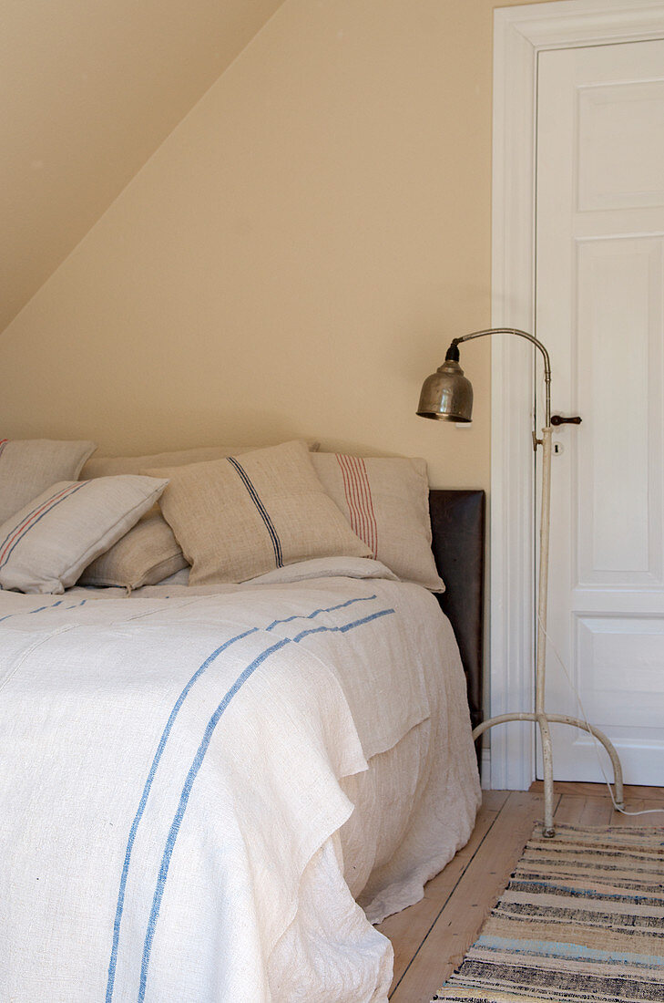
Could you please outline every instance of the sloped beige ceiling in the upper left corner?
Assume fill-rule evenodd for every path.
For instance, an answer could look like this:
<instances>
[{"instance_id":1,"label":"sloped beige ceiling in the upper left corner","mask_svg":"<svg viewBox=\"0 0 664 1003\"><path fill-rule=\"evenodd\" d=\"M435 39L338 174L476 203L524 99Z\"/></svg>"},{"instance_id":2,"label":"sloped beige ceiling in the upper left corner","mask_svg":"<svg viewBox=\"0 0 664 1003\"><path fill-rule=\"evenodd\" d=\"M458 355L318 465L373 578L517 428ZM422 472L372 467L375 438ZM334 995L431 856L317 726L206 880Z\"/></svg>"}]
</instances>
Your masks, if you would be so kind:
<instances>
[{"instance_id":1,"label":"sloped beige ceiling in the upper left corner","mask_svg":"<svg viewBox=\"0 0 664 1003\"><path fill-rule=\"evenodd\" d=\"M0 0L0 331L282 0Z\"/></svg>"}]
</instances>

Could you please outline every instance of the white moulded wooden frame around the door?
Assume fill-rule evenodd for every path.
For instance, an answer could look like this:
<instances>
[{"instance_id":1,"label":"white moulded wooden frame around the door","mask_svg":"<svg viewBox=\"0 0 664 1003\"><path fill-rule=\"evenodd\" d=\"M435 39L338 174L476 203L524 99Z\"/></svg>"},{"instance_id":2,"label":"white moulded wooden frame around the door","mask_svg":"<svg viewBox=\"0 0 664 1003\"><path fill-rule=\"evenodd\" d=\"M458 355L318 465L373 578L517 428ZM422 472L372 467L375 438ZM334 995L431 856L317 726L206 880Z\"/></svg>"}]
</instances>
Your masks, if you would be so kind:
<instances>
[{"instance_id":1,"label":"white moulded wooden frame around the door","mask_svg":"<svg viewBox=\"0 0 664 1003\"><path fill-rule=\"evenodd\" d=\"M494 13L492 324L535 330L538 55L664 37L664 0L555 0ZM536 476L532 353L492 339L491 715L534 704ZM555 397L555 387L554 387ZM555 546L555 544L554 544ZM535 729L491 731L491 786L535 778Z\"/></svg>"}]
</instances>

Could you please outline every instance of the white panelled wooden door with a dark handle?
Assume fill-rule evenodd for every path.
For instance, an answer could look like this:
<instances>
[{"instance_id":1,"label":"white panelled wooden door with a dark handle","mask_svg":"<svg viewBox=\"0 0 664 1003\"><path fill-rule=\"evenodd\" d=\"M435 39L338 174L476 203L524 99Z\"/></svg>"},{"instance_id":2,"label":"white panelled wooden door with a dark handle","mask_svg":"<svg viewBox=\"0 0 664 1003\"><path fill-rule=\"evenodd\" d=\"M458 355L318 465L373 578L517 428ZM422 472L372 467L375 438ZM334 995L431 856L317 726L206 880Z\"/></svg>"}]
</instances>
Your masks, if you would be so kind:
<instances>
[{"instance_id":1,"label":"white panelled wooden door with a dark handle","mask_svg":"<svg viewBox=\"0 0 664 1003\"><path fill-rule=\"evenodd\" d=\"M664 41L541 52L537 135L536 334L582 418L554 436L549 634L626 781L664 784ZM582 716L548 667L548 709ZM585 732L554 750L602 779Z\"/></svg>"}]
</instances>

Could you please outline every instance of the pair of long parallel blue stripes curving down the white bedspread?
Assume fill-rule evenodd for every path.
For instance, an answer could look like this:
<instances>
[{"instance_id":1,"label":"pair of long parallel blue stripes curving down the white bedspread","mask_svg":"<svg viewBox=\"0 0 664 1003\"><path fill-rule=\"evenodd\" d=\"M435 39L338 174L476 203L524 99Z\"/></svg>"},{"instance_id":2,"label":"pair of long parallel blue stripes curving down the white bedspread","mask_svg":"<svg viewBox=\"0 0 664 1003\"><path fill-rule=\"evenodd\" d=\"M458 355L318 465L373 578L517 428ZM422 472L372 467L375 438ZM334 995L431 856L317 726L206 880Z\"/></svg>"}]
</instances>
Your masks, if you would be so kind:
<instances>
[{"instance_id":1,"label":"pair of long parallel blue stripes curving down the white bedspread","mask_svg":"<svg viewBox=\"0 0 664 1003\"><path fill-rule=\"evenodd\" d=\"M247 630L244 630L241 633L236 634L233 637L229 638L227 641L224 641L223 644L219 645L218 648L216 648L214 651L212 651L211 654L209 654L207 656L207 658L201 663L201 665L196 669L196 671L193 673L193 675L191 676L191 678L188 680L188 682L186 683L186 685L182 689L182 692L180 693L180 695L178 696L177 700L175 701L175 703L173 705L173 708L172 708L172 710L171 710L171 712L169 714L168 720L166 721L164 729L163 729L163 731L161 733L161 737L159 739L159 743L157 745L156 752L155 752L154 757L152 759L152 763L150 765L150 768L149 768L149 771L148 771L148 774L147 774L147 778L146 778L144 786L143 786L143 791L142 791L142 794L141 794L141 797L140 797L140 801L138 803L138 808L136 810L136 813L134 815L134 818L133 818L133 821L131 823L131 827L130 827L130 830L129 830L129 837L128 837L128 840L127 840L127 846L126 846L125 855L124 855L124 861L123 861L123 866L122 866L122 872L121 872L121 875L120 875L120 884L119 884L119 889L118 889L118 896L117 896L117 905L116 905L116 910L115 910L115 917L114 917L114 921L113 921L113 938L112 938L110 961L109 961L109 965L108 965L108 981L107 981L107 984L106 984L106 1003L110 1003L110 1001L113 998L113 986L114 986L114 982L115 982L115 973L116 973L116 968L117 968L117 958L118 958L118 950L119 950L120 927L121 927L121 923L122 923L122 914L123 914L123 910L124 910L126 886L127 886L127 881L128 881L128 877L129 877L129 868L130 868L130 864L131 864L131 855L132 855L132 850L133 850L134 842L135 842L135 839L136 839L136 833L137 833L137 830L138 830L138 826L140 824L140 820L141 820L141 818L143 816L143 813L145 811L145 806L147 804L147 799L148 799L148 796L149 796L149 793L150 793L150 789L151 789L152 784L154 782L154 777L155 777L155 774L157 772L159 761L161 760L163 752L164 752L164 749L166 747L166 743L168 741L168 737L169 737L169 735L170 735L170 733L171 733L171 731L173 729L173 725L175 723L176 717L177 717L177 715L178 715L178 713L179 713L179 711L180 711L180 709L181 709L184 701L186 700L188 694L190 693L192 687L195 685L195 683L197 682L197 680L200 679L200 677L204 674L204 672L206 671L206 669L209 668L209 666L219 657L219 655L221 655L224 651L226 651L231 645L235 644L238 641L243 640L244 638L248 637L251 634L256 634L256 633L258 633L260 631L265 631L265 632L266 631L271 631L271 630L273 630L277 626L280 626L282 624L292 623L294 620L313 620L317 616L319 616L320 614L323 614L323 613L335 613L335 612L338 612L340 610L347 609L348 607L356 605L358 603L371 602L371 601L376 600L376 599L377 599L376 595L358 596L358 597L355 597L353 599L346 600L343 603L338 603L335 606L329 606L329 607L326 607L326 608L315 609L315 610L311 611L310 613L296 614L296 615L293 615L293 616L290 616L290 617L285 617L285 618L283 618L281 620L273 620L266 627L251 627L251 628L248 628ZM158 878L157 878L157 885L156 885L156 889L155 889L155 892L154 892L154 898L153 898L153 902L152 902L152 909L151 909L151 912L150 912L150 917L149 917L148 924L147 924L147 931L146 931L146 934L145 934L143 959L142 959L142 963L141 963L140 988L139 988L139 994L138 994L138 1000L139 1001L143 1001L144 1000L144 996L145 996L145 989L146 989L146 984L147 984L147 971L148 971L149 960L150 960L152 940L153 940L153 937L154 937L154 930L155 930L155 927L156 927L156 921L157 921L157 918L158 918L159 906L161 904L161 899L162 899L162 896L163 896L163 890L164 890L164 886L165 886L165 882L166 882L166 877L168 875L168 868L169 868L169 865L170 865L170 858L172 856L173 848L174 848L174 845L175 845L175 841L177 839L177 833L178 833L179 828L180 828L180 824L181 824L181 821L182 821L182 817L184 815L184 811L186 810L186 805L187 805L187 802L188 802L188 799L189 799L189 794L190 794L190 791L191 791L191 787L193 785L193 781L195 780L195 777L196 777L196 775L198 773L198 770L200 769L200 765L202 764L203 757L205 755L205 752L207 751L207 746L209 745L210 739L212 737L212 733L213 733L213 731L214 731L214 729L215 729L215 727L216 727L216 725L217 725L217 723L218 723L221 715L223 714L223 711L228 706L228 704L230 703L230 701L232 700L232 698L235 696L235 694L237 692L239 692L239 690L241 689L241 687L243 686L243 684L246 682L246 680L250 678L250 676L253 674L253 672L255 672L255 670L258 668L258 666L261 665L265 661L265 659L267 659L271 654L273 654L274 652L278 651L280 648L283 648L285 645L287 645L287 644L298 644L305 637L308 637L309 635L315 634L315 633L342 633L342 634L345 634L345 633L348 633L349 631L354 630L354 629L356 629L358 627L362 627L365 624L371 623L372 621L375 621L375 620L378 620L378 619L380 619L382 617L385 617L385 616L388 616L390 614L393 614L394 612L395 612L394 609L379 610L378 612L372 613L372 614L370 614L370 615L368 615L366 617L363 617L363 618L361 618L359 620L354 620L354 621L352 621L350 623L342 624L340 626L331 626L331 627L321 626L321 627L316 627L316 628L313 628L311 630L301 631L299 634L297 634L293 638L282 638L282 639L280 639L279 641L277 641L274 644L272 644L272 645L268 646L267 648L265 648L256 658L253 659L253 661L249 665L246 666L246 668L240 673L240 675L237 677L237 679L235 680L235 682L233 683L233 685L227 691L227 693L225 694L225 696L224 696L223 700L221 701L221 703L217 706L216 710L214 711L214 714L212 715L212 717L210 718L210 720L207 723L207 727L205 729L203 738L202 738L202 740L200 742L200 745L198 747L198 751L196 752L194 760L193 760L193 762L192 762L192 764L191 764L191 766L189 768L189 772L187 773L187 777L186 777L186 780L184 782L184 786L182 788L182 792L181 792L181 795L180 795L180 800L179 800L178 808L177 808L177 811L175 813L175 817L173 818L173 821L171 823L170 830L169 830L169 833L168 833L168 838L166 840L166 846L165 846L165 849L164 849L164 852L163 852L162 861L161 861L161 867L159 869L159 875L158 875Z\"/></svg>"}]
</instances>

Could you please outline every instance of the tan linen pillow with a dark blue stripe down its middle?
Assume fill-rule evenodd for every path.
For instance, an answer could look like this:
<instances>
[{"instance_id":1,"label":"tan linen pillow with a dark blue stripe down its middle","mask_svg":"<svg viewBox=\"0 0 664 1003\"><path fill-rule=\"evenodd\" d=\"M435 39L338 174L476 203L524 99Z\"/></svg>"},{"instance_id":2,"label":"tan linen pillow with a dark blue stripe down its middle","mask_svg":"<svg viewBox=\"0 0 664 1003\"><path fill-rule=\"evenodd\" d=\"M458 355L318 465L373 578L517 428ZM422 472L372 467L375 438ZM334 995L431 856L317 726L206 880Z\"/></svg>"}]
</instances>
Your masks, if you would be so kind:
<instances>
[{"instance_id":1,"label":"tan linen pillow with a dark blue stripe down its middle","mask_svg":"<svg viewBox=\"0 0 664 1003\"><path fill-rule=\"evenodd\" d=\"M189 585L245 582L315 557L367 557L325 494L303 442L147 470L168 477L164 519L191 565Z\"/></svg>"}]
</instances>

